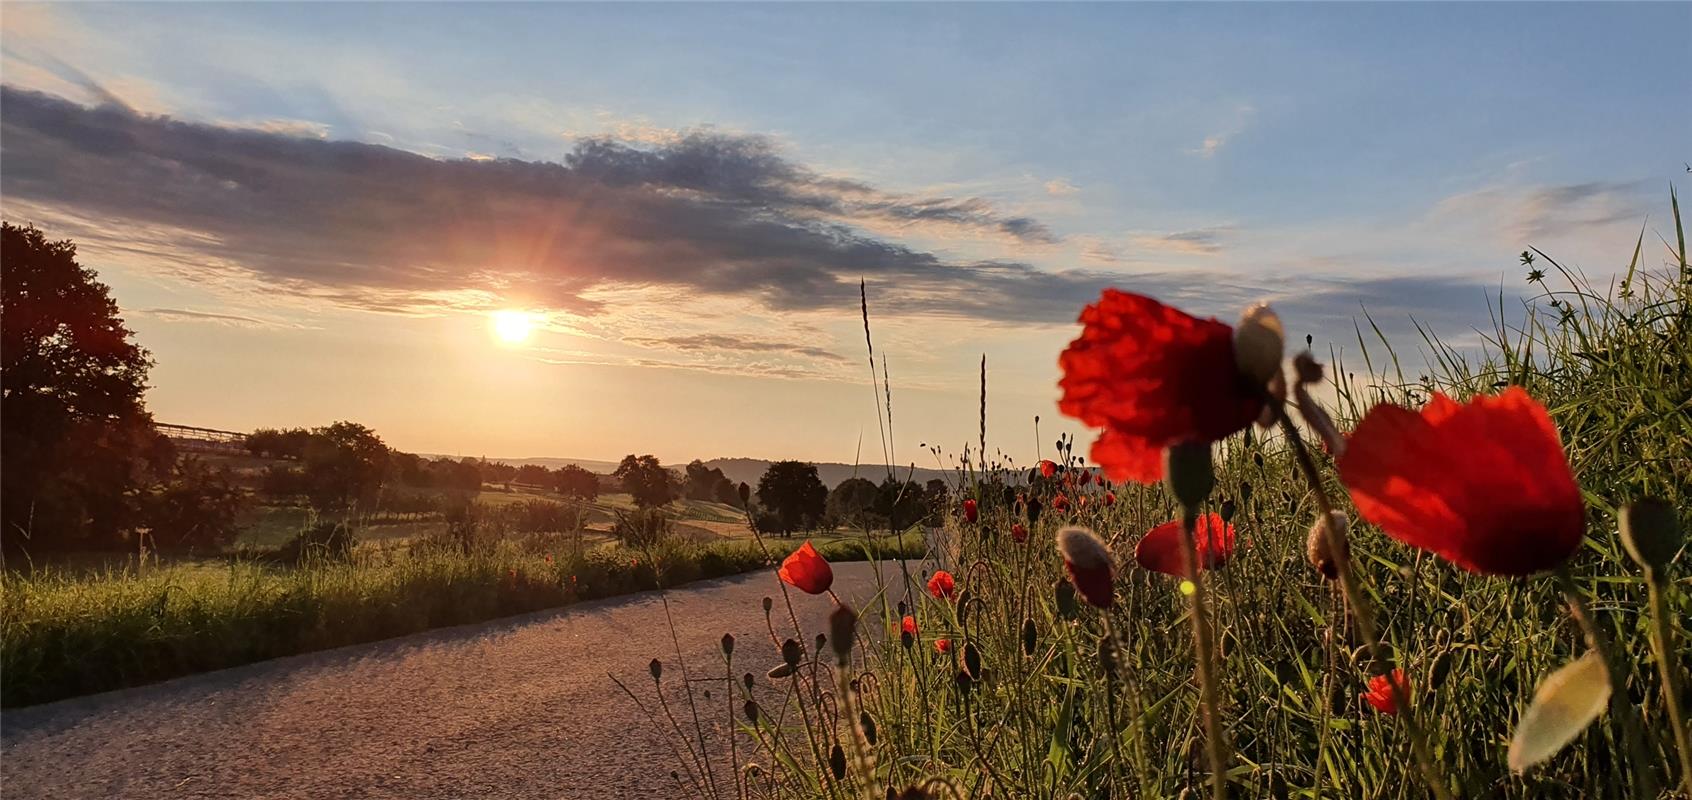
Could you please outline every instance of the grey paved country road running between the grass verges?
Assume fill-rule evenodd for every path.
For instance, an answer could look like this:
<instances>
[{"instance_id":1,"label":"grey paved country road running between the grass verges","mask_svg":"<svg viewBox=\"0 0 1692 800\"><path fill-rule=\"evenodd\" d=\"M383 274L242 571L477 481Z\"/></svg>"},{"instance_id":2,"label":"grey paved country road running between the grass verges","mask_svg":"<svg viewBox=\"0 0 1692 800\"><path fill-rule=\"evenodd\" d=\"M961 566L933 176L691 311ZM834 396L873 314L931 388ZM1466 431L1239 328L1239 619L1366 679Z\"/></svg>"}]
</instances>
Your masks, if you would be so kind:
<instances>
[{"instance_id":1,"label":"grey paved country road running between the grass verges","mask_svg":"<svg viewBox=\"0 0 1692 800\"><path fill-rule=\"evenodd\" d=\"M834 568L843 599L873 595L870 565ZM897 565L883 565L883 573L898 578ZM690 668L709 665L722 675L724 633L739 641L736 673L761 675L777 665L761 609L772 594L780 612L768 572L672 590ZM805 631L824 631L827 597L794 597ZM670 780L677 758L670 741L607 677L651 702L653 656L673 683L678 670L663 605L656 592L645 592L10 710L0 715L0 793L7 800L689 797ZM712 687L709 709L717 729L728 712L721 687Z\"/></svg>"}]
</instances>

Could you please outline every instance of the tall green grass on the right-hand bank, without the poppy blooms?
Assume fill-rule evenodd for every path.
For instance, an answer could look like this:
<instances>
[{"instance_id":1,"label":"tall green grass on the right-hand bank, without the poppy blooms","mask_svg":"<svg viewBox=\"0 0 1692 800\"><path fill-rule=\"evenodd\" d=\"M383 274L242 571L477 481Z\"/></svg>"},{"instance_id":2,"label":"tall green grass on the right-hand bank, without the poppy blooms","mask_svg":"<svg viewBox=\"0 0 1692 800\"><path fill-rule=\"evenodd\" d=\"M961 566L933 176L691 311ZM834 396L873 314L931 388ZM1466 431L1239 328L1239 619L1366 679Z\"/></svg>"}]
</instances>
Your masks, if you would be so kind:
<instances>
[{"instance_id":1,"label":"tall green grass on the right-hand bank, without the poppy blooms","mask_svg":"<svg viewBox=\"0 0 1692 800\"><path fill-rule=\"evenodd\" d=\"M1692 504L1692 271L1678 208L1675 223L1677 240L1665 242L1668 264L1646 269L1641 235L1616 286L1594 288L1545 254L1524 254L1526 269L1543 269L1531 272L1538 293L1521 311L1501 299L1477 348L1425 332L1411 355L1367 321L1360 350L1330 355L1342 428L1374 403L1416 406L1433 391L1464 399L1524 386L1557 419L1587 501L1589 534L1570 572L1604 633L1621 644L1626 700L1645 719L1645 761L1628 753L1616 721L1606 717L1550 761L1511 773L1506 748L1535 687L1585 649L1557 585L1477 577L1355 526L1355 570L1455 797L1626 798L1640 786L1682 780L1658 680L1663 665L1646 636L1646 584L1616 536L1616 512L1629 501L1667 501L1682 528ZM1428 367L1403 372L1421 362ZM1352 374L1359 367L1364 377ZM1206 573L1218 705L1233 746L1225 775L1232 797L1428 797L1404 719L1360 699L1386 665L1372 661L1337 587L1306 562L1316 502L1286 440L1250 431L1217 450L1217 492L1206 511L1228 516L1240 533L1235 556ZM1061 457L1071 470L1081 467L1068 450ZM860 605L851 660L838 670L822 638L812 649L816 631L794 629L804 644L795 668L728 682L736 704L748 702L736 705L743 758L733 764L744 780L704 793L1162 798L1205 786L1191 604L1178 580L1135 568L1132 558L1140 534L1176 518L1174 502L1161 487L1117 485L1115 504L1107 504L1105 487L1090 487L1079 490L1085 506L1071 489L1069 509L1058 512L1052 489L1036 487L1046 512L1019 543L1008 531L1027 516L992 482L1010 480L1010 472L988 465L976 474L959 463L958 474L981 518L954 521L931 556L958 575L959 597L927 595L926 575L883 587L882 597ZM1332 462L1321 474L1330 494L1343 499ZM1085 524L1108 540L1115 609L1066 599L1052 548L1064 524ZM1682 558L1662 612L1667 666L1682 677L1692 668L1685 573ZM914 616L915 638L900 634L902 612Z\"/></svg>"}]
</instances>

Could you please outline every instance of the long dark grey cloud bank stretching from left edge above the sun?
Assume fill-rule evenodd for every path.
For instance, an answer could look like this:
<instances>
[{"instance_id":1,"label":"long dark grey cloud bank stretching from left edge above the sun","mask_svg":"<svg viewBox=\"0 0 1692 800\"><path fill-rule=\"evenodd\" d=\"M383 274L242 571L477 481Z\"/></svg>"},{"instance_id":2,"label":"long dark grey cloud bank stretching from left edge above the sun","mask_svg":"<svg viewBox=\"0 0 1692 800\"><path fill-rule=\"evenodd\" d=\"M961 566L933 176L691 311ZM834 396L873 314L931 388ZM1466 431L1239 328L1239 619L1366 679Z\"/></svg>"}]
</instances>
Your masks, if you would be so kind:
<instances>
[{"instance_id":1,"label":"long dark grey cloud bank stretching from left edge above the sun","mask_svg":"<svg viewBox=\"0 0 1692 800\"><path fill-rule=\"evenodd\" d=\"M763 137L704 130L653 147L596 139L563 164L431 159L0 93L8 213L102 220L80 235L112 247L129 227L191 232L161 255L360 308L482 298L592 315L604 311L599 289L670 288L821 310L854 304L861 276L897 286L888 311L1054 321L1112 279L951 262L876 238L863 227L1056 237L985 200L819 174Z\"/></svg>"}]
</instances>

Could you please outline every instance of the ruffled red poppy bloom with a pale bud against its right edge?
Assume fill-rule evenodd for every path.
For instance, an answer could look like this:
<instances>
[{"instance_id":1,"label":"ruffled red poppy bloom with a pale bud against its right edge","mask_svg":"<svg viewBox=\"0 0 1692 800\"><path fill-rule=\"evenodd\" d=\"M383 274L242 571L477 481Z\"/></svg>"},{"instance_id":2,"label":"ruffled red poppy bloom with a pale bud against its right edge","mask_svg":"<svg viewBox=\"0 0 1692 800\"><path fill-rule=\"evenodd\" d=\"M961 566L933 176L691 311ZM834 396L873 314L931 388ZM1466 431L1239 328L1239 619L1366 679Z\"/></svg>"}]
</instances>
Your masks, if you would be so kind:
<instances>
[{"instance_id":1,"label":"ruffled red poppy bloom with a pale bud against its right edge","mask_svg":"<svg viewBox=\"0 0 1692 800\"><path fill-rule=\"evenodd\" d=\"M1217 441L1262 411L1235 365L1233 328L1142 294L1105 289L1058 365L1058 408L1103 430L1091 457L1112 480L1161 480L1164 448Z\"/></svg>"}]
</instances>

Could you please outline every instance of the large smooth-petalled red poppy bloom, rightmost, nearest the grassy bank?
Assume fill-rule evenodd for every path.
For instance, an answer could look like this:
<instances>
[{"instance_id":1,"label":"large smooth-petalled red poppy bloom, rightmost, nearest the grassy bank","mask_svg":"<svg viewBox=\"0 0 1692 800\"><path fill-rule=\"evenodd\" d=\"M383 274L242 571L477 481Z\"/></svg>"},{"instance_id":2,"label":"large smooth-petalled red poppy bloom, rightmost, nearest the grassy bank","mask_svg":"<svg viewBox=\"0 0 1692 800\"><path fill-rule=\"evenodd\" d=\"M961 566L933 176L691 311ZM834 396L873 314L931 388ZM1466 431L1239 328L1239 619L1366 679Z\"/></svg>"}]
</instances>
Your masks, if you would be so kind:
<instances>
[{"instance_id":1,"label":"large smooth-petalled red poppy bloom, rightmost, nearest the grassy bank","mask_svg":"<svg viewBox=\"0 0 1692 800\"><path fill-rule=\"evenodd\" d=\"M1568 560L1585 507L1552 416L1518 386L1421 409L1379 404L1338 460L1364 519L1469 572L1531 575Z\"/></svg>"}]
</instances>

